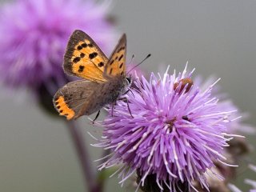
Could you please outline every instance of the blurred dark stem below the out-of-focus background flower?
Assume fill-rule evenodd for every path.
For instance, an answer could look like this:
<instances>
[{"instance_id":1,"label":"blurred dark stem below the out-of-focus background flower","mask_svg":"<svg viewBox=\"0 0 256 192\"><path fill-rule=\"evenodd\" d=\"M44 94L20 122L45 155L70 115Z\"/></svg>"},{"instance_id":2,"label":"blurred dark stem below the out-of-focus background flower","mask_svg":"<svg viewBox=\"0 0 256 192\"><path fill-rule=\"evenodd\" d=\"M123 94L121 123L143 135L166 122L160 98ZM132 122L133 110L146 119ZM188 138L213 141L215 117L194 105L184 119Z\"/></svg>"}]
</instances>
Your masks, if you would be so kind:
<instances>
[{"instance_id":1,"label":"blurred dark stem below the out-of-focus background flower","mask_svg":"<svg viewBox=\"0 0 256 192\"><path fill-rule=\"evenodd\" d=\"M88 188L86 192L102 192L102 186L97 183L96 174L90 161L90 154L88 153L85 146L85 138L82 137L82 133L78 124L74 121L70 121L67 122L67 126L70 130L70 134L74 142L74 147L77 150L78 158L80 159L82 165L82 172Z\"/></svg>"}]
</instances>

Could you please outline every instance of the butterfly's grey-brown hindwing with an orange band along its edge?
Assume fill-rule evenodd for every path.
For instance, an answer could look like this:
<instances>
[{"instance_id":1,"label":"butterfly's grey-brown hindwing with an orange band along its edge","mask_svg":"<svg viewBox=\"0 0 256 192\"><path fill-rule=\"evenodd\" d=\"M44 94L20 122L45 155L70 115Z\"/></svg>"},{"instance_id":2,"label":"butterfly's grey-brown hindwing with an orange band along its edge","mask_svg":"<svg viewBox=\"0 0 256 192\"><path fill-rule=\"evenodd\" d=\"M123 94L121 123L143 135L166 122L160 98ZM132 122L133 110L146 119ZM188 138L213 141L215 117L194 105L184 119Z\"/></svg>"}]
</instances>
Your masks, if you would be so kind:
<instances>
[{"instance_id":1,"label":"butterfly's grey-brown hindwing with an orange band along its edge","mask_svg":"<svg viewBox=\"0 0 256 192\"><path fill-rule=\"evenodd\" d=\"M92 102L99 85L85 80L69 82L54 95L54 107L68 120L78 118L86 110L85 106Z\"/></svg>"}]
</instances>

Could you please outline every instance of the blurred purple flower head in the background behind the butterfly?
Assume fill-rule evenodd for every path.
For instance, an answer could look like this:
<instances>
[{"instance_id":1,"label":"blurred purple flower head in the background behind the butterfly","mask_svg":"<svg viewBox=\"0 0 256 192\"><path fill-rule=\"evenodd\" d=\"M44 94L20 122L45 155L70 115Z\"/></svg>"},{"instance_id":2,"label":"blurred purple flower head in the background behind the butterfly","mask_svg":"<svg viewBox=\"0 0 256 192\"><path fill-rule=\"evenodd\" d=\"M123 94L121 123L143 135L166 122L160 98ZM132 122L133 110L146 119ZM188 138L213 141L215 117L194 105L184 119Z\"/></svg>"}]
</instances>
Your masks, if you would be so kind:
<instances>
[{"instance_id":1,"label":"blurred purple flower head in the background behind the butterfly","mask_svg":"<svg viewBox=\"0 0 256 192\"><path fill-rule=\"evenodd\" d=\"M16 0L0 11L0 74L11 86L37 87L53 78L58 86L66 82L63 54L76 29L90 34L102 50L112 47L115 34L106 18L106 3Z\"/></svg>"}]
</instances>

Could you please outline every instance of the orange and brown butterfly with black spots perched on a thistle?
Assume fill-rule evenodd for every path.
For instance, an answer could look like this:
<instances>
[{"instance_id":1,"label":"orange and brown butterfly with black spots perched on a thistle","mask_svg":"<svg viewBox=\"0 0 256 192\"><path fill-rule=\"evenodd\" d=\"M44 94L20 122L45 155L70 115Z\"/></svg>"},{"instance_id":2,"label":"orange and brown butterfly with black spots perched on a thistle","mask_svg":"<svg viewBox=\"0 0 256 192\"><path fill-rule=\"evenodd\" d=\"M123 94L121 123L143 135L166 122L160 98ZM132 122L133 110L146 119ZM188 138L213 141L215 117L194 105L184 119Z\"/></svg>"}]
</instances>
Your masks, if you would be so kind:
<instances>
[{"instance_id":1,"label":"orange and brown butterfly with black spots perched on a thistle","mask_svg":"<svg viewBox=\"0 0 256 192\"><path fill-rule=\"evenodd\" d=\"M88 34L75 30L66 47L63 69L66 74L84 79L69 82L57 91L53 100L58 113L67 120L97 111L99 114L130 85L126 77L126 34L108 59Z\"/></svg>"}]
</instances>

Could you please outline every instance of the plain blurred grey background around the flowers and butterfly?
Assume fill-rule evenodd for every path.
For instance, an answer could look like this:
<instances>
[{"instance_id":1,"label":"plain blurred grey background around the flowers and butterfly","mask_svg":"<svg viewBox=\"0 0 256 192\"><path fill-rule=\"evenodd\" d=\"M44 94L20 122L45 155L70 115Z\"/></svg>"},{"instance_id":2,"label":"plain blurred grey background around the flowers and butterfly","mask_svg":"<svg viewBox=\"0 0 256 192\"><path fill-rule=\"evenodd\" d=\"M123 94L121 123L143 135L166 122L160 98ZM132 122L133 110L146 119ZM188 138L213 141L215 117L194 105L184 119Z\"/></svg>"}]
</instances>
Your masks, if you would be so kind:
<instances>
[{"instance_id":1,"label":"plain blurred grey background around the flowers and butterfly","mask_svg":"<svg viewBox=\"0 0 256 192\"><path fill-rule=\"evenodd\" d=\"M112 14L118 18L120 34L127 34L128 58L135 54L139 61L151 53L142 65L146 70L158 71L166 65L182 70L189 61L190 69L196 68L194 74L221 77L222 90L251 114L246 122L256 126L255 0L115 0ZM24 92L14 96L1 90L0 94L0 190L84 191L66 125L45 114ZM88 145L94 142L86 131L98 130L90 128L86 118L78 122ZM97 159L101 151L89 147L88 158ZM235 183L246 191L245 177L256 178L256 174L246 166L238 173ZM120 189L115 178L106 187L106 191L129 191L126 186Z\"/></svg>"}]
</instances>

